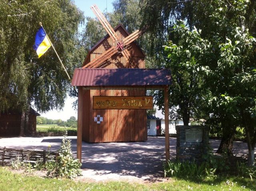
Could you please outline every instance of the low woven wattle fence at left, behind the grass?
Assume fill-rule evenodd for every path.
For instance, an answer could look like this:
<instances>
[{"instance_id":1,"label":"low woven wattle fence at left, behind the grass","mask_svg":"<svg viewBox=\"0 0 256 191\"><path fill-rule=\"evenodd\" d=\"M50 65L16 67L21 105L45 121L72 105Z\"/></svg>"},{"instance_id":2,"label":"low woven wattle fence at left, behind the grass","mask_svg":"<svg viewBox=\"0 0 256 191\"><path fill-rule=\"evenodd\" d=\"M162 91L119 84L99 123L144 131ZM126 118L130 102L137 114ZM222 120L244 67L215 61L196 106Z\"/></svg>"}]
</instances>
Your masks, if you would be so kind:
<instances>
[{"instance_id":1,"label":"low woven wattle fence at left, behind the grass","mask_svg":"<svg viewBox=\"0 0 256 191\"><path fill-rule=\"evenodd\" d=\"M0 165L9 165L12 161L20 161L25 163L36 163L37 161L55 161L58 156L57 152L49 152L47 150L36 151L26 149L10 149L0 147Z\"/></svg>"}]
</instances>

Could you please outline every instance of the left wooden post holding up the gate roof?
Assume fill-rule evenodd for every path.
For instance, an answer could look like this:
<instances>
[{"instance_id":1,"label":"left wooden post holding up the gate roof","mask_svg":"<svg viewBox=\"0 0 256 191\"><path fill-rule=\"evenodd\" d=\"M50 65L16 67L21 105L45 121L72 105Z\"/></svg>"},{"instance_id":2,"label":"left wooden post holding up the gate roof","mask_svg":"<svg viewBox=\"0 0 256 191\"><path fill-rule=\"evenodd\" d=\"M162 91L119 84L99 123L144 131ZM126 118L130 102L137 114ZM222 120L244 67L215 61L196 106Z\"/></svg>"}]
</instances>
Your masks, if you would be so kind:
<instances>
[{"instance_id":1,"label":"left wooden post holding up the gate roof","mask_svg":"<svg viewBox=\"0 0 256 191\"><path fill-rule=\"evenodd\" d=\"M76 156L82 162L83 87L78 87Z\"/></svg>"}]
</instances>

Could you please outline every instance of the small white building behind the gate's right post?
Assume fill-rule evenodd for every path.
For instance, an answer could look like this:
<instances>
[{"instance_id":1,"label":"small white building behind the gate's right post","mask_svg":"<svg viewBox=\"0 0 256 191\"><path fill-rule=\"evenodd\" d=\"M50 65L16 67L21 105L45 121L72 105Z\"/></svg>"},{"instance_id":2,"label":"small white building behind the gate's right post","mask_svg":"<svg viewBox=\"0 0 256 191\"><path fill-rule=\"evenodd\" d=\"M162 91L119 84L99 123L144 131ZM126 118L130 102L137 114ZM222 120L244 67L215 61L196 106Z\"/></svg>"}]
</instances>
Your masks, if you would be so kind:
<instances>
[{"instance_id":1,"label":"small white building behind the gate's right post","mask_svg":"<svg viewBox=\"0 0 256 191\"><path fill-rule=\"evenodd\" d=\"M175 125L183 125L182 120L171 121L169 119L169 133L176 134ZM156 136L160 135L161 131L164 132L164 114L162 110L156 110L155 115L147 115L147 129L148 135Z\"/></svg>"}]
</instances>

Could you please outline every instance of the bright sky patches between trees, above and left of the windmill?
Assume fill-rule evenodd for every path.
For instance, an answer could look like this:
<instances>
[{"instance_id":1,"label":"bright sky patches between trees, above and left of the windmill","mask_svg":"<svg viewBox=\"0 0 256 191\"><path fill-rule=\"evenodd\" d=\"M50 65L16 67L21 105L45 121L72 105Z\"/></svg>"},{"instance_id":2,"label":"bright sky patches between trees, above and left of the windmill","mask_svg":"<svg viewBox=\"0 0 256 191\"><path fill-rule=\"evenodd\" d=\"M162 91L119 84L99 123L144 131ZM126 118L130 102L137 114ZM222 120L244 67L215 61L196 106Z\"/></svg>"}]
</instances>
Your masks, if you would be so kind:
<instances>
[{"instance_id":1,"label":"bright sky patches between trees, above and left of the windmill","mask_svg":"<svg viewBox=\"0 0 256 191\"><path fill-rule=\"evenodd\" d=\"M90 9L90 6L92 6L93 4L96 4L102 12L106 12L106 8L108 12L112 12L113 10L112 2L114 2L114 0L91 0L91 1L90 0L89 1L74 0L74 2L76 6L84 12L85 17L87 16L95 17L94 13ZM80 27L80 30L81 29L82 27ZM40 114L42 117L47 117L48 119L62 119L64 121L69 119L71 116L75 116L77 118L77 111L75 111L72 108L72 103L75 100L76 99L74 98L67 97L65 101L65 106L62 111L52 110L52 111L48 111L46 113L40 113Z\"/></svg>"}]
</instances>

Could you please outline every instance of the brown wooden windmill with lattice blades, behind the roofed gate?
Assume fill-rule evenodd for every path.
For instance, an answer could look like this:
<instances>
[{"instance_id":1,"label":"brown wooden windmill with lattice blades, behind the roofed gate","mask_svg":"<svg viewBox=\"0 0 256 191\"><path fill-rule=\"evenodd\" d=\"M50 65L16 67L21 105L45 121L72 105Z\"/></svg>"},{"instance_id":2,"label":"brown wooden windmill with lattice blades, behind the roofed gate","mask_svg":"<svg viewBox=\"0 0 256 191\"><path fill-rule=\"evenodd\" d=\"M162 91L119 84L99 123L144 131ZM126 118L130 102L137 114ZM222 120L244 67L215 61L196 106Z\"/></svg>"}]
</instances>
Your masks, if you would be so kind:
<instances>
[{"instance_id":1,"label":"brown wooden windmill with lattice blades, behind the roofed gate","mask_svg":"<svg viewBox=\"0 0 256 191\"><path fill-rule=\"evenodd\" d=\"M102 38L88 52L82 68L145 68L145 54L134 42L142 34L130 36L119 24L116 28L108 24L96 6L92 6L108 35ZM86 79L89 80L89 79ZM93 96L145 96L145 90L84 90L84 113L82 139L90 143L116 141L146 141L145 109L93 109ZM103 117L102 123L95 123L94 117ZM136 120L138 119L138 120Z\"/></svg>"}]
</instances>

